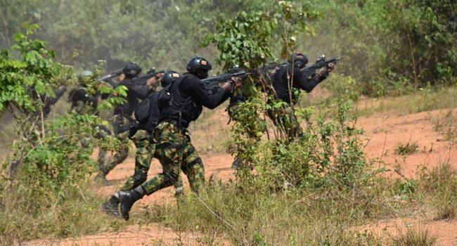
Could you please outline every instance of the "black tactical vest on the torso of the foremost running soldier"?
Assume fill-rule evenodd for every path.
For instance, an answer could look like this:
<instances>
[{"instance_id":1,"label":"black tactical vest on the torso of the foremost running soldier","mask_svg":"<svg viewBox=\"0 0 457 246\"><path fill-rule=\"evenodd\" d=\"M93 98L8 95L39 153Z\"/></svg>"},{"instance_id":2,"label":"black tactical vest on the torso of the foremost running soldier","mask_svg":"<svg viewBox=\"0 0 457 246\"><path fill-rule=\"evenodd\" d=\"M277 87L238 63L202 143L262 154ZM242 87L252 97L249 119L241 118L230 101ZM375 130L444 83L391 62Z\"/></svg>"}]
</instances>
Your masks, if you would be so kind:
<instances>
[{"instance_id":1,"label":"black tactical vest on the torso of the foremost running soldier","mask_svg":"<svg viewBox=\"0 0 457 246\"><path fill-rule=\"evenodd\" d=\"M180 124L179 127L187 128L189 123L198 119L202 113L203 107L200 103L195 102L191 96L184 97L179 93L179 85L189 76L193 75L184 75L173 82L169 89L172 98L169 105L162 108L160 122L173 122Z\"/></svg>"}]
</instances>

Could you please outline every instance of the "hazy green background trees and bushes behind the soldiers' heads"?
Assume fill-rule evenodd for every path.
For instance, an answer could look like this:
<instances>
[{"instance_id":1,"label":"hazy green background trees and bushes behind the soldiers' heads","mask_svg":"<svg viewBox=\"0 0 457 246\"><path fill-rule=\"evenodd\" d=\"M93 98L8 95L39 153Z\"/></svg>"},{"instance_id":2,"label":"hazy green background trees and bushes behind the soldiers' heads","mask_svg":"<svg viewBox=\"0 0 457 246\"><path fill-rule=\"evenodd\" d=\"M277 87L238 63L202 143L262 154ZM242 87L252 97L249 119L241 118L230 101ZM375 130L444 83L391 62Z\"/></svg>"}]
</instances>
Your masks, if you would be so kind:
<instances>
[{"instance_id":1,"label":"hazy green background trees and bushes behind the soldiers' heads","mask_svg":"<svg viewBox=\"0 0 457 246\"><path fill-rule=\"evenodd\" d=\"M290 8L287 2L25 0L18 5L1 0L0 44L11 46L13 34L23 22L37 23L43 28L37 37L50 41L58 60L66 64L91 67L103 59L112 70L134 60L145 67L181 70L195 53L214 60L219 48L221 56L232 56L226 52L228 46L200 46L207 34L217 31L220 20L229 22L240 11L243 15L270 11L270 17L276 18L279 12L272 10L284 8L289 18L318 18L307 21L305 32L296 32L295 27L292 32L282 32L282 27L303 22L273 23L281 26L281 32L265 41L269 40L269 52L276 57L284 58L287 51L283 40L307 53L311 61L323 53L345 56L336 71L354 79L359 93L374 96L456 83L457 25L453 16L457 4L453 1L300 0L294 1L297 8ZM298 9L308 10L304 11L307 15L294 13ZM241 41L241 37L233 38ZM245 38L243 44L250 46Z\"/></svg>"}]
</instances>

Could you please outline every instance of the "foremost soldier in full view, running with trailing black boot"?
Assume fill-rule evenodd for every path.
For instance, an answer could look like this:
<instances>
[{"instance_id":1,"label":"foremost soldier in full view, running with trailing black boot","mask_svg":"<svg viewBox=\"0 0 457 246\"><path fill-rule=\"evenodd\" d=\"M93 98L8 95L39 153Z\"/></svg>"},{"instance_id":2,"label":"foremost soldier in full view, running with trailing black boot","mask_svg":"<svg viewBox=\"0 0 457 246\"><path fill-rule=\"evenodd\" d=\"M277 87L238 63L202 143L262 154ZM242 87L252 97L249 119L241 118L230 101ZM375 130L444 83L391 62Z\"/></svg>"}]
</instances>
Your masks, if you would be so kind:
<instances>
[{"instance_id":1,"label":"foremost soldier in full view, running with trailing black boot","mask_svg":"<svg viewBox=\"0 0 457 246\"><path fill-rule=\"evenodd\" d=\"M234 77L221 88L207 90L200 79L208 77L211 64L200 56L191 59L186 67L188 73L169 87L169 103L162 108L160 121L154 132L156 142L156 155L162 164L162 174L142 183L141 186L129 192L120 192L121 214L125 220L129 219L129 211L134 202L150 195L157 190L172 186L179 187L179 174L186 174L191 189L198 193L200 187L205 185L205 168L202 160L195 152L188 133L188 125L197 119L202 106L214 109L224 103L231 96L231 84L238 89L241 79ZM162 98L159 98L161 101Z\"/></svg>"}]
</instances>

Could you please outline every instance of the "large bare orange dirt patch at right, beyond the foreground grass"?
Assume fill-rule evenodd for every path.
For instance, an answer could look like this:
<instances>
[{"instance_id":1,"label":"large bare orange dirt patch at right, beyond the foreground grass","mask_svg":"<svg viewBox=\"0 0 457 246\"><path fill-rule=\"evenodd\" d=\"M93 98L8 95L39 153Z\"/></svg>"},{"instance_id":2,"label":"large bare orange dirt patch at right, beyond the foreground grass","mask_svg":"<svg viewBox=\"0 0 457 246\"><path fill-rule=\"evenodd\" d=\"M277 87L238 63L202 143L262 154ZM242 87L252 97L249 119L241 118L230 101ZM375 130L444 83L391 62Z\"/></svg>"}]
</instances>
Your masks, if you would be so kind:
<instances>
[{"instance_id":1,"label":"large bare orange dirt patch at right, beyond the foreground grass","mask_svg":"<svg viewBox=\"0 0 457 246\"><path fill-rule=\"evenodd\" d=\"M382 159L387 167L397 169L407 178L415 177L416 171L422 167L432 169L445 162L457 168L457 145L444 141L444 134L435 131L432 122L448 112L434 110L412 115L359 118L358 125L368 136L368 157ZM453 114L457 114L457 109L453 109ZM395 150L399 143L417 143L418 150L410 155L398 155Z\"/></svg>"}]
</instances>

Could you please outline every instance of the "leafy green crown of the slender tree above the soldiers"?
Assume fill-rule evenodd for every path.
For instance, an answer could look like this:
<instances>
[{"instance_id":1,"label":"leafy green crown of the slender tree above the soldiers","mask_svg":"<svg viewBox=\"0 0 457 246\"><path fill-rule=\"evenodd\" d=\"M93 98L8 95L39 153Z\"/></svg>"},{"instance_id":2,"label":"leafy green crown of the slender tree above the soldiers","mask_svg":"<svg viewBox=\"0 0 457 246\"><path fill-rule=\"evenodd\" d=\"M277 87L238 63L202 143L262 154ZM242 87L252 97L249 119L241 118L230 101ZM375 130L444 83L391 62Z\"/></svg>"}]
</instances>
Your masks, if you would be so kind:
<instances>
[{"instance_id":1,"label":"leafy green crown of the slender tree above the soldiers","mask_svg":"<svg viewBox=\"0 0 457 246\"><path fill-rule=\"evenodd\" d=\"M240 65L252 70L276 57L271 49L273 39L283 39L282 58L288 58L295 49L297 34L311 32L307 21L320 15L311 10L309 4L295 6L290 1L278 1L271 11L247 13L241 11L235 18L222 20L216 27L216 33L207 35L204 45L217 44L219 57L217 63L224 63L228 69Z\"/></svg>"}]
</instances>

